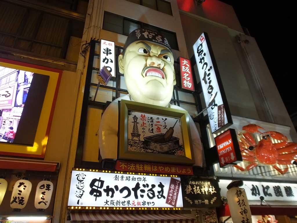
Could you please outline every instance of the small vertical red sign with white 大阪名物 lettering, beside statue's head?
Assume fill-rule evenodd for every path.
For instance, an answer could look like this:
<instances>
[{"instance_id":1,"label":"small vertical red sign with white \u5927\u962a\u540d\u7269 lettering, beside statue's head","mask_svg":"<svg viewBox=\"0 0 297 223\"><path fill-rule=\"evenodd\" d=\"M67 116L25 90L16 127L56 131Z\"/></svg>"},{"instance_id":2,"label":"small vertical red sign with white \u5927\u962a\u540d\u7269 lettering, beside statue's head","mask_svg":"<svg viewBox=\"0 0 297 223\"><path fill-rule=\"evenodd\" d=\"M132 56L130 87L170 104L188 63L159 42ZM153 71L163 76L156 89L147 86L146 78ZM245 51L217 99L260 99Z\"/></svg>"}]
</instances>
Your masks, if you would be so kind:
<instances>
[{"instance_id":1,"label":"small vertical red sign with white \u5927\u962a\u540d\u7269 lettering, beside statue's head","mask_svg":"<svg viewBox=\"0 0 297 223\"><path fill-rule=\"evenodd\" d=\"M191 61L189 59L179 57L179 67L181 72L181 87L183 89L195 91Z\"/></svg>"}]
</instances>

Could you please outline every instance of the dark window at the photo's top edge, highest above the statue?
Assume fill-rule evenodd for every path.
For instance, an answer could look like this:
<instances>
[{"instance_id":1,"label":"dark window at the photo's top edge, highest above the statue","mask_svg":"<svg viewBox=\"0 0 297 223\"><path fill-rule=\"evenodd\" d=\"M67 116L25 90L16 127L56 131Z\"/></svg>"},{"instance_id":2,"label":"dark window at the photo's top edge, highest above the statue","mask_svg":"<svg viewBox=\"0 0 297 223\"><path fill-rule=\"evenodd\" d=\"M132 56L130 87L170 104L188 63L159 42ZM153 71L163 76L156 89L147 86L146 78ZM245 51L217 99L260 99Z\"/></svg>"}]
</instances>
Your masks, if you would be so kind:
<instances>
[{"instance_id":1,"label":"dark window at the photo's top edge, highest above the statue","mask_svg":"<svg viewBox=\"0 0 297 223\"><path fill-rule=\"evenodd\" d=\"M171 4L165 0L127 0L153 10L172 15Z\"/></svg>"}]
</instances>

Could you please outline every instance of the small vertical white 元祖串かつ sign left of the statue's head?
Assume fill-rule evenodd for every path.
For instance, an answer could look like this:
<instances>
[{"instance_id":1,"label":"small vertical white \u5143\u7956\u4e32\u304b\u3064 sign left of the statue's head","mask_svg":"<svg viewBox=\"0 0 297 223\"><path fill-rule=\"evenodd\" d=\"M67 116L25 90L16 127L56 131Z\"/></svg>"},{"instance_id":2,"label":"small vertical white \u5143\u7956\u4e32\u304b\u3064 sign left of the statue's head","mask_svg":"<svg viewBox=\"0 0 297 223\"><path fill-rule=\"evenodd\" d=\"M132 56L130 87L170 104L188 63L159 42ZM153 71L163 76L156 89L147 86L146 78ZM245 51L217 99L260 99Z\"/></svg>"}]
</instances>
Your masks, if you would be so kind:
<instances>
[{"instance_id":1,"label":"small vertical white \u5143\u7956\u4e32\u304b\u3064 sign left of the statue's head","mask_svg":"<svg viewBox=\"0 0 297 223\"><path fill-rule=\"evenodd\" d=\"M115 43L102 40L100 41L100 70L105 66L112 77L116 76Z\"/></svg>"}]
</instances>

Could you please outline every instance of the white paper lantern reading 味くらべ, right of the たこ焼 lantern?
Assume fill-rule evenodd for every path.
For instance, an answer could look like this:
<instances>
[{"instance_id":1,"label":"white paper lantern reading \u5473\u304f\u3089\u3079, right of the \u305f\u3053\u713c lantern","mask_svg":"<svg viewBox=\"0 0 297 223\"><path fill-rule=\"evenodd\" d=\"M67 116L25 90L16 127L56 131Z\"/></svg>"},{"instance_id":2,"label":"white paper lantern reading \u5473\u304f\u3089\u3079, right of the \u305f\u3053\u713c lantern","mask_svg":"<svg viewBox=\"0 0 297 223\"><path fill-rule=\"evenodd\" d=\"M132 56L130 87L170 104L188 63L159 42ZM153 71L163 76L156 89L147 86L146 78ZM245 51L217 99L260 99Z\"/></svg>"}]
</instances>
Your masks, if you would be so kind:
<instances>
[{"instance_id":1,"label":"white paper lantern reading \u5473\u304f\u3089\u3079, right of the \u305f\u3053\u713c lantern","mask_svg":"<svg viewBox=\"0 0 297 223\"><path fill-rule=\"evenodd\" d=\"M53 183L42 180L37 184L34 206L37 209L46 209L50 205L53 193Z\"/></svg>"}]
</instances>

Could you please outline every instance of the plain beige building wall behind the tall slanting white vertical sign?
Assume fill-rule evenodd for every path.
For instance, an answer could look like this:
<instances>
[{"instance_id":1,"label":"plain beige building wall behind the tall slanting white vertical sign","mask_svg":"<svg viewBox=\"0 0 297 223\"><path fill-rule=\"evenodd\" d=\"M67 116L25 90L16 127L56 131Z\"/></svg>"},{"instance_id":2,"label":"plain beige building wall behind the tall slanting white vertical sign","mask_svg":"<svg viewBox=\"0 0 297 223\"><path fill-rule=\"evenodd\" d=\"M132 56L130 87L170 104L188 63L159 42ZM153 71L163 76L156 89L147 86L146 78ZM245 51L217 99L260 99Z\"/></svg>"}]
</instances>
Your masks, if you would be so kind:
<instances>
[{"instance_id":1,"label":"plain beige building wall behind the tall slanting white vertical sign","mask_svg":"<svg viewBox=\"0 0 297 223\"><path fill-rule=\"evenodd\" d=\"M228 27L188 12L181 11L180 17L189 57L194 54L192 46L200 37L200 34L202 32L208 33L231 114L259 119L240 61L233 47Z\"/></svg>"}]
</instances>

